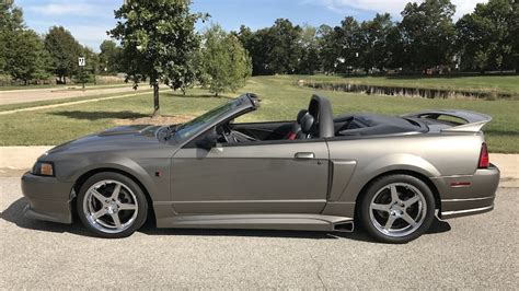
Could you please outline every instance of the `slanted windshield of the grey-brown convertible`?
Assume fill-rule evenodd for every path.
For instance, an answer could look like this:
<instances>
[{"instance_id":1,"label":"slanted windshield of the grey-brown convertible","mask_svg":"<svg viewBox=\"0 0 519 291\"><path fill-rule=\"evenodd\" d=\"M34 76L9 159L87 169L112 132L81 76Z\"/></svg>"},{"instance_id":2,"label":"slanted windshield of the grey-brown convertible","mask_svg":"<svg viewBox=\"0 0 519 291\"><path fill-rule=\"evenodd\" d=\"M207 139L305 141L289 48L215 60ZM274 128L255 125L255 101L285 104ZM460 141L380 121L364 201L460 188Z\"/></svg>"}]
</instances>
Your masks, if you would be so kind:
<instances>
[{"instance_id":1,"label":"slanted windshield of the grey-brown convertible","mask_svg":"<svg viewBox=\"0 0 519 291\"><path fill-rule=\"evenodd\" d=\"M174 138L177 141L185 140L196 132L198 132L200 129L205 128L207 125L212 124L214 121L218 120L221 116L223 116L227 112L235 108L242 103L241 98L233 100L229 103L226 103L223 105L220 105L198 117L195 119L187 121L173 131Z\"/></svg>"}]
</instances>

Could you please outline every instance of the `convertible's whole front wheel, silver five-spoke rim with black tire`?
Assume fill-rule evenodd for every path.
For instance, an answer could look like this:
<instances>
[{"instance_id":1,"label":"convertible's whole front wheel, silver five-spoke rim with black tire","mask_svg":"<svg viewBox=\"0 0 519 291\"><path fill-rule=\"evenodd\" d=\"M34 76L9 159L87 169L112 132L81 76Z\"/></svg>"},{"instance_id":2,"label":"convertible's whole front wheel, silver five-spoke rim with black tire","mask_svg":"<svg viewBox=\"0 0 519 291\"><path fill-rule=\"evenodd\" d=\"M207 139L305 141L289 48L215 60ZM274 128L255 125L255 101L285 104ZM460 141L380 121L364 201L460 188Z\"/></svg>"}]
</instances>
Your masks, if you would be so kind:
<instances>
[{"instance_id":1,"label":"convertible's whole front wheel, silver five-spoke rim with black tire","mask_svg":"<svg viewBox=\"0 0 519 291\"><path fill-rule=\"evenodd\" d=\"M126 237L137 231L148 216L142 189L117 173L100 173L81 187L77 199L81 222L102 237Z\"/></svg>"}]
</instances>

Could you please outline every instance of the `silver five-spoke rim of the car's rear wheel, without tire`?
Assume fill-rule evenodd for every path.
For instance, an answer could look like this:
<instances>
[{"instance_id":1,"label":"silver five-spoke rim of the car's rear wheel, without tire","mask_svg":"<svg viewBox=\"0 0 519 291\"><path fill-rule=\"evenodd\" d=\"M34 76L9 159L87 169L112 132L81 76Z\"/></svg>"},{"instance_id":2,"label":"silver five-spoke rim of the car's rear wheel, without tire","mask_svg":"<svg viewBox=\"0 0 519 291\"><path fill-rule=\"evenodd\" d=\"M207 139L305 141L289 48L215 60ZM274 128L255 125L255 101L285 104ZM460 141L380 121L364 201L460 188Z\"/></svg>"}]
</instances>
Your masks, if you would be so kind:
<instances>
[{"instance_id":1,"label":"silver five-spoke rim of the car's rear wheel, without tire","mask_svg":"<svg viewBox=\"0 0 519 291\"><path fill-rule=\"evenodd\" d=\"M415 232L424 223L426 214L424 194L407 183L392 183L380 188L369 205L372 225L392 237Z\"/></svg>"}]
</instances>

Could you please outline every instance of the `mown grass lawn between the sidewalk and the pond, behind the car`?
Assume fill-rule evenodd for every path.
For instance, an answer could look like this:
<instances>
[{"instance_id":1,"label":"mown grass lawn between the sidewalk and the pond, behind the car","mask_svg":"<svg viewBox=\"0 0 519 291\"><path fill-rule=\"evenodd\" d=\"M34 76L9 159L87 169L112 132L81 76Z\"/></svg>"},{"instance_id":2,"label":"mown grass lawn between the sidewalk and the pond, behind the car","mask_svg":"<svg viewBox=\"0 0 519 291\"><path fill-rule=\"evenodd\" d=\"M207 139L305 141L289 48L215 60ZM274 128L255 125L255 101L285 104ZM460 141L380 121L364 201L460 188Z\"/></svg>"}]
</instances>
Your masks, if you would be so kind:
<instances>
[{"instance_id":1,"label":"mown grass lawn between the sidewalk and the pond, behind the car","mask_svg":"<svg viewBox=\"0 0 519 291\"><path fill-rule=\"evenodd\" d=\"M308 106L309 98L314 93L309 88L297 86L299 78L301 77L255 77L240 92L226 94L222 97L212 97L203 90L191 90L186 96L173 94L171 91L164 92L161 94L161 113L168 116L198 115L228 102L228 97L243 92L254 92L262 98L262 108L245 115L238 121L295 119L297 113ZM469 86L469 84L460 85ZM508 86L512 88L514 85ZM491 151L519 153L518 101L425 100L331 91L318 93L330 97L335 114L360 112L403 114L431 108L459 108L486 113L494 117L494 120L485 127ZM2 109L0 108L0 110ZM151 94L146 94L0 115L0 128L2 128L0 146L57 144L113 127L117 119L147 117L151 110Z\"/></svg>"}]
</instances>

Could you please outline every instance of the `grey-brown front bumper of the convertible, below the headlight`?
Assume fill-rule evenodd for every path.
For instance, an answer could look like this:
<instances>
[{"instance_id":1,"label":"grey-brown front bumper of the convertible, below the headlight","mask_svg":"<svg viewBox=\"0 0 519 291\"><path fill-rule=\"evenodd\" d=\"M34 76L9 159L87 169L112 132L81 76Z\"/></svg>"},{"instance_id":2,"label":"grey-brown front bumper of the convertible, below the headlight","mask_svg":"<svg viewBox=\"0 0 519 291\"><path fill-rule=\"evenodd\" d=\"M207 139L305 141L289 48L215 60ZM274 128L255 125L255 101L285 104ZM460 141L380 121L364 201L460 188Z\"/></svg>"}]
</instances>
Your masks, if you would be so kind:
<instances>
[{"instance_id":1,"label":"grey-brown front bumper of the convertible, below the headlight","mask_svg":"<svg viewBox=\"0 0 519 291\"><path fill-rule=\"evenodd\" d=\"M71 190L73 183L60 182L56 177L22 176L22 193L28 205L26 218L60 223L72 223Z\"/></svg>"}]
</instances>

